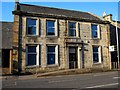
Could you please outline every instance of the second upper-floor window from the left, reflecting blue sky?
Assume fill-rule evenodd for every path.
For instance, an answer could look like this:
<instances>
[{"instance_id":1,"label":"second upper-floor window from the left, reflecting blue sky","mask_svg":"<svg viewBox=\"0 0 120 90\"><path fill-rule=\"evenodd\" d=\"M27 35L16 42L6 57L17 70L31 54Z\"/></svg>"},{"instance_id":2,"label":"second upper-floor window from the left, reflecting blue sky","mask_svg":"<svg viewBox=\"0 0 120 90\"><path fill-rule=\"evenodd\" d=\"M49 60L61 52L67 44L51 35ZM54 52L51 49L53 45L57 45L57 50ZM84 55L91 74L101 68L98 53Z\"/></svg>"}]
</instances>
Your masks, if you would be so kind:
<instances>
[{"instance_id":1,"label":"second upper-floor window from the left, reflecting blue sky","mask_svg":"<svg viewBox=\"0 0 120 90\"><path fill-rule=\"evenodd\" d=\"M47 20L46 21L46 34L47 35L55 35L55 21Z\"/></svg>"}]
</instances>

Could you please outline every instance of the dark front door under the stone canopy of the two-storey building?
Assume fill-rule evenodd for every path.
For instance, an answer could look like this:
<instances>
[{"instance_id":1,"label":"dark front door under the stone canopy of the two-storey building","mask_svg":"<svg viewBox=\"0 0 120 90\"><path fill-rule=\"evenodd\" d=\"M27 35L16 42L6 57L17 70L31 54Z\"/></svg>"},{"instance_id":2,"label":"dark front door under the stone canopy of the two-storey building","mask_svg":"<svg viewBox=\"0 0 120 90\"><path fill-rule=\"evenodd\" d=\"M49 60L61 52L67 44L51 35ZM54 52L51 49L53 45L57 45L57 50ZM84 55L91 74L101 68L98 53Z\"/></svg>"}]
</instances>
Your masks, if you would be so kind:
<instances>
[{"instance_id":1,"label":"dark front door under the stone canopy of the two-storey building","mask_svg":"<svg viewBox=\"0 0 120 90\"><path fill-rule=\"evenodd\" d=\"M69 68L77 68L77 48L69 47Z\"/></svg>"}]
</instances>

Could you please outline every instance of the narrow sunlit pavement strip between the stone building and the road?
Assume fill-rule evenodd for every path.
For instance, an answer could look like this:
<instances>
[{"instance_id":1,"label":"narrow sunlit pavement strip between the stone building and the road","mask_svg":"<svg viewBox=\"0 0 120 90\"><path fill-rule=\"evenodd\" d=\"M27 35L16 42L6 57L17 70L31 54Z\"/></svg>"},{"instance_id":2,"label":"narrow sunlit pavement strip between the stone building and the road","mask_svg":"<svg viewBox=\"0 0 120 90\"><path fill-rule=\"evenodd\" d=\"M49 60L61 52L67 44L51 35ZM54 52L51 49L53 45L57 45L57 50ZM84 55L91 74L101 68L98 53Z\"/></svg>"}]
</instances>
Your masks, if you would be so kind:
<instances>
[{"instance_id":1,"label":"narrow sunlit pavement strip between the stone building and the road","mask_svg":"<svg viewBox=\"0 0 120 90\"><path fill-rule=\"evenodd\" d=\"M112 72L112 71L107 71ZM116 72L116 70L115 70ZM0 76L0 79L7 80L7 79L18 79L18 80L26 80L26 79L35 79L38 77L51 77L51 76L61 76L61 75L75 75L75 74L88 74L88 73L101 73L98 72L91 72L91 70L77 70L77 69L68 69L68 70L60 70L60 71L53 71L53 72L46 72L40 74L32 74L32 75L8 75L8 76Z\"/></svg>"}]
</instances>

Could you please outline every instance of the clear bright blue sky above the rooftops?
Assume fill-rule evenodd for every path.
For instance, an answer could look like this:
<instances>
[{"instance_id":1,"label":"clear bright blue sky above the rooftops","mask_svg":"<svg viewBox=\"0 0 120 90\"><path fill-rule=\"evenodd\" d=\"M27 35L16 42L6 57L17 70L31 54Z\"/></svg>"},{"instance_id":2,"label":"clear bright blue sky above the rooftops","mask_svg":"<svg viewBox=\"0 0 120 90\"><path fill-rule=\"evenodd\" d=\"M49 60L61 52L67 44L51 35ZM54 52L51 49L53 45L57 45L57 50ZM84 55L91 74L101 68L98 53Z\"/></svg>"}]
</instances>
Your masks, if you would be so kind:
<instances>
[{"instance_id":1,"label":"clear bright blue sky above the rooftops","mask_svg":"<svg viewBox=\"0 0 120 90\"><path fill-rule=\"evenodd\" d=\"M62 8L68 10L77 10L83 12L91 12L99 17L102 17L103 12L106 12L106 14L112 14L114 20L115 18L118 19L118 2L20 2L20 3ZM0 3L0 13L2 13L0 15L0 21L13 22L12 11L14 10L14 6L15 6L14 2Z\"/></svg>"}]
</instances>

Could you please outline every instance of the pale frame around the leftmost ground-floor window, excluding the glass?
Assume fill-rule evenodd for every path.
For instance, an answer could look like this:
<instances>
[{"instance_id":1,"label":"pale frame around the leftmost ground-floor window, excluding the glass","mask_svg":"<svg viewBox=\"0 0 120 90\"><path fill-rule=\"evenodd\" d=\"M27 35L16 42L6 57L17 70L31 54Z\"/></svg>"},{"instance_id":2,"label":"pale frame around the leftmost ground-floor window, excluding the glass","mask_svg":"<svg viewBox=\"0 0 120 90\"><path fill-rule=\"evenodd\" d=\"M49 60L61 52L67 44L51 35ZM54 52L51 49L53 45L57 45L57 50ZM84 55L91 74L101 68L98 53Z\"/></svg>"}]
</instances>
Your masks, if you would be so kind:
<instances>
[{"instance_id":1,"label":"pale frame around the leftmost ground-floor window, excluding the glass","mask_svg":"<svg viewBox=\"0 0 120 90\"><path fill-rule=\"evenodd\" d=\"M36 46L36 65L28 65L28 46ZM26 45L26 66L39 66L39 45L36 44L27 44Z\"/></svg>"}]
</instances>

